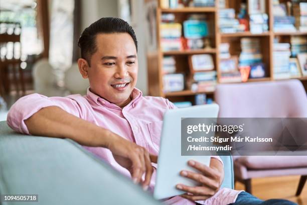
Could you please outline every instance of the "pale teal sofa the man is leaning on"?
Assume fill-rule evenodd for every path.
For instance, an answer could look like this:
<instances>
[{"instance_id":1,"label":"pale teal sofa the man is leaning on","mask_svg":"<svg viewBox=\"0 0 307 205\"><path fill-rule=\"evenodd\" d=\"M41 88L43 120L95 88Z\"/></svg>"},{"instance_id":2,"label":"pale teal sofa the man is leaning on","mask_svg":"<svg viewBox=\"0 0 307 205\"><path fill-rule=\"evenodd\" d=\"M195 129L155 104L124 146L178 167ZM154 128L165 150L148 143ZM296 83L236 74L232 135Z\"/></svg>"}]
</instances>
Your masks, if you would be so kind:
<instances>
[{"instance_id":1,"label":"pale teal sofa the man is leaning on","mask_svg":"<svg viewBox=\"0 0 307 205\"><path fill-rule=\"evenodd\" d=\"M223 187L233 188L230 156L222 156ZM26 204L160 204L69 139L33 137L0 122L0 193L38 194ZM25 204L0 202L0 204Z\"/></svg>"}]
</instances>

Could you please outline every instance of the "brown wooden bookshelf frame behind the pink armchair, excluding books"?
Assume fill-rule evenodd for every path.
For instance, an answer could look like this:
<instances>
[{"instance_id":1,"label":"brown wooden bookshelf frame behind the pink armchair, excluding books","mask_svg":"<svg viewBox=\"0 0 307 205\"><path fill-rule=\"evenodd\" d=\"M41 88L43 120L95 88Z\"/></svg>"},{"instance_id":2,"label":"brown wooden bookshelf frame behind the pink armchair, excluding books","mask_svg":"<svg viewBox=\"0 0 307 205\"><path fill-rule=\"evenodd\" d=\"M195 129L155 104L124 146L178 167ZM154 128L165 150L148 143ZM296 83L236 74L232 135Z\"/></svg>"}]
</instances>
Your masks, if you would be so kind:
<instances>
[{"instance_id":1,"label":"brown wooden bookshelf frame behind the pink armchair, excluding books","mask_svg":"<svg viewBox=\"0 0 307 205\"><path fill-rule=\"evenodd\" d=\"M174 56L176 60L176 72L189 74L188 56L193 54L211 54L214 60L215 70L217 71L217 83L221 77L219 68L219 45L221 43L229 43L229 53L231 55L239 55L238 47L240 46L240 39L243 37L258 38L260 39L260 47L262 54L262 62L265 64L265 77L248 79L249 82L261 82L261 81L273 81L273 43L274 38L279 37L282 42L290 43L291 36L305 36L307 38L307 32L274 32L273 31L273 0L265 0L265 13L268 15L268 32L265 33L251 33L251 32L240 32L240 33L221 33L218 21L219 21L219 8L218 1L216 0L216 7L208 8L180 8L180 9L163 9L160 7L157 9L157 43L158 50L147 54L147 68L148 68L148 90L149 95L163 96L169 98L171 101L192 101L194 95L200 92L193 92L191 90L183 90L177 92L163 92L163 67L162 60L164 56ZM247 0L246 2L248 2ZM285 3L289 0L280 0L281 3ZM158 0L159 2L159 0ZM227 8L234 8L236 14L239 12L240 3L243 0L226 0ZM159 2L160 3L160 2ZM209 27L209 38L211 42L210 49L198 49L198 50L182 50L182 51L163 51L161 48L160 39L160 24L161 16L163 14L171 13L175 15L176 23L183 23L191 14L206 15L207 22L210 22ZM307 88L307 76L296 78L302 81L304 87ZM244 82L242 82L244 83ZM225 84L225 83L223 83ZM214 92L201 92L207 94L209 97L214 99Z\"/></svg>"}]
</instances>

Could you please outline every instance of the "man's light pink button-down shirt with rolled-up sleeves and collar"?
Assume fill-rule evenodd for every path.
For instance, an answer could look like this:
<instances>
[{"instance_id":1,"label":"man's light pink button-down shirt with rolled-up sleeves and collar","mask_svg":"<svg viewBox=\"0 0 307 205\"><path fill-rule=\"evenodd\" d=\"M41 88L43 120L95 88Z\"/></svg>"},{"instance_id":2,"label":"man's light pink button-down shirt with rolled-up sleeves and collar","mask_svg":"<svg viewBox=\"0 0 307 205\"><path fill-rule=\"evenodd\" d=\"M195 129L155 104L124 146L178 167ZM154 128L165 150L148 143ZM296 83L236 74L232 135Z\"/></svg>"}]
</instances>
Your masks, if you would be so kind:
<instances>
[{"instance_id":1,"label":"man's light pink button-down shirt with rolled-up sleeves and collar","mask_svg":"<svg viewBox=\"0 0 307 205\"><path fill-rule=\"evenodd\" d=\"M132 91L132 100L123 109L92 93L89 89L85 96L79 94L66 97L46 97L40 94L30 94L20 98L8 114L8 125L17 132L29 134L24 120L30 118L40 109L57 106L66 112L106 128L117 135L135 142L148 150L149 153L158 155L160 146L160 133L163 115L166 110L175 106L163 97L142 96L138 89ZM104 160L114 169L127 177L131 177L128 170L121 167L113 158L112 153L101 147L86 147L87 150ZM219 157L217 158L222 162ZM223 163L223 162L222 162ZM156 164L152 164L157 168ZM155 186L156 171L152 174L149 190ZM202 204L229 204L233 203L240 191L222 188L214 196ZM172 197L165 201L168 204L195 204L180 196Z\"/></svg>"}]
</instances>

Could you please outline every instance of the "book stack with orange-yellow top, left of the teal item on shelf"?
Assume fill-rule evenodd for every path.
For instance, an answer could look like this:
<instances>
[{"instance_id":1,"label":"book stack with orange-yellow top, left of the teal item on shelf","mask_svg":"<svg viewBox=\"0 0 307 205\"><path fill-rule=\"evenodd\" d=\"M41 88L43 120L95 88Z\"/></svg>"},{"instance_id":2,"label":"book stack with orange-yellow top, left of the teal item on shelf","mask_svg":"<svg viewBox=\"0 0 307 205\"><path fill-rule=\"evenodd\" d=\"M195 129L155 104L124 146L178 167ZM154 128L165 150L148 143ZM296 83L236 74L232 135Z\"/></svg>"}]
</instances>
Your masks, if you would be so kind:
<instances>
[{"instance_id":1,"label":"book stack with orange-yellow top, left of the teal item on shelf","mask_svg":"<svg viewBox=\"0 0 307 205\"><path fill-rule=\"evenodd\" d=\"M179 23L161 23L160 37L163 51L182 50L182 25Z\"/></svg>"}]
</instances>

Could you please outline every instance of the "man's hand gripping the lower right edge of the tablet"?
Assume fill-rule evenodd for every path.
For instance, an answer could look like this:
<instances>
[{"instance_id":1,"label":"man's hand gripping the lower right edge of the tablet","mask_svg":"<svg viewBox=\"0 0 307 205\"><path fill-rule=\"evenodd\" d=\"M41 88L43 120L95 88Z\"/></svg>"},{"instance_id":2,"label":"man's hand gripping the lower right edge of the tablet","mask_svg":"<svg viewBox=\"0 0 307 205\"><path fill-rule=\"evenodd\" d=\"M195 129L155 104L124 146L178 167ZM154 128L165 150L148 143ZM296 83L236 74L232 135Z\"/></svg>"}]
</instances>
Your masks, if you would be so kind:
<instances>
[{"instance_id":1,"label":"man's hand gripping the lower right edge of the tablet","mask_svg":"<svg viewBox=\"0 0 307 205\"><path fill-rule=\"evenodd\" d=\"M177 184L176 187L178 189L187 192L181 196L192 201L206 200L213 196L219 190L224 179L224 169L222 164L214 158L211 159L210 166L206 166L193 160L190 160L188 164L201 173L183 170L180 172L180 175L193 179L200 185L193 187L184 184Z\"/></svg>"}]
</instances>

